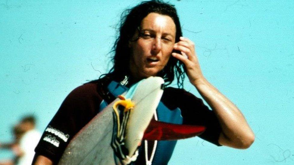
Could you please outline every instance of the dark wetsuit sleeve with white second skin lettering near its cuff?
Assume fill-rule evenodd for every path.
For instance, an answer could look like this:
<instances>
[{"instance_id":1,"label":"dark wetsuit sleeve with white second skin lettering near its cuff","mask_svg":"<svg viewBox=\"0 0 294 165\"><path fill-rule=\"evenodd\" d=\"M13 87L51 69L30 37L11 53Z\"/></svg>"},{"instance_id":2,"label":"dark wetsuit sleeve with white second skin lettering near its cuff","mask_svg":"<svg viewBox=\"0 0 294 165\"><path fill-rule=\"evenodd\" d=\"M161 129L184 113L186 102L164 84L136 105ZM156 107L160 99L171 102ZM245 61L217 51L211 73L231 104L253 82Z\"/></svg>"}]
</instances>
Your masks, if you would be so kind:
<instances>
[{"instance_id":1,"label":"dark wetsuit sleeve with white second skin lettering near its cuff","mask_svg":"<svg viewBox=\"0 0 294 165\"><path fill-rule=\"evenodd\" d=\"M101 102L95 84L84 84L74 89L46 127L35 148L36 155L58 163L73 136L98 113Z\"/></svg>"}]
</instances>

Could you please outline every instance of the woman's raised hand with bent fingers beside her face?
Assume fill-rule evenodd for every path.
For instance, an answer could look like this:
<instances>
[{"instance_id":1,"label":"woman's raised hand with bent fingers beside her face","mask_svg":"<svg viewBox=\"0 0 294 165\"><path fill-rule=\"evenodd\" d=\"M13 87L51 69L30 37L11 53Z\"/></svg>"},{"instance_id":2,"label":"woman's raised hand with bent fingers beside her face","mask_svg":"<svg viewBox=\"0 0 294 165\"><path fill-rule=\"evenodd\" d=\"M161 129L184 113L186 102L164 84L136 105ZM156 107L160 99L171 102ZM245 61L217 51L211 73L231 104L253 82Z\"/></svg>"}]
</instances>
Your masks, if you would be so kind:
<instances>
[{"instance_id":1,"label":"woman's raised hand with bent fingers beside her face","mask_svg":"<svg viewBox=\"0 0 294 165\"><path fill-rule=\"evenodd\" d=\"M189 81L196 86L204 77L196 56L194 43L185 37L180 37L180 41L174 44L174 49L181 51L182 54L172 53L172 56L182 61L186 66L186 74Z\"/></svg>"}]
</instances>

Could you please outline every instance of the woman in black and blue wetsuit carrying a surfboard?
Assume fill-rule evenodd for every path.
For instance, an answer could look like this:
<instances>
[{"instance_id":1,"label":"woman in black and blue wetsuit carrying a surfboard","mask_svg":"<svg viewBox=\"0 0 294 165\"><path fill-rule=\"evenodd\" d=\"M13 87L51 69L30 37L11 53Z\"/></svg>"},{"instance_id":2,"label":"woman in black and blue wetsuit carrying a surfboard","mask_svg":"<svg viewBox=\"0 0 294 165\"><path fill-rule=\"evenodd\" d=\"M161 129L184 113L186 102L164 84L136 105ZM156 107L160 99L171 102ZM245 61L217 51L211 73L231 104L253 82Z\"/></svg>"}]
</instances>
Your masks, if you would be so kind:
<instances>
[{"instance_id":1,"label":"woman in black and blue wetsuit carrying a surfboard","mask_svg":"<svg viewBox=\"0 0 294 165\"><path fill-rule=\"evenodd\" d=\"M252 130L239 109L202 75L194 43L182 37L175 8L154 0L142 2L126 13L114 45L114 67L105 77L84 84L67 96L36 147L35 164L58 162L70 139L99 112L102 100L114 100L106 88L111 81L129 87L143 78L160 76L169 85L176 75L178 86L183 87L184 71L212 111L201 99L172 87L164 89L161 99L167 109L171 113L180 109L181 114L175 118L181 124L205 125L207 129L200 137L209 142L248 148L254 141ZM167 121L172 122L173 118ZM45 137L51 141L42 140ZM136 164L167 164L175 142L162 142L165 151L158 151L155 143L142 144Z\"/></svg>"}]
</instances>

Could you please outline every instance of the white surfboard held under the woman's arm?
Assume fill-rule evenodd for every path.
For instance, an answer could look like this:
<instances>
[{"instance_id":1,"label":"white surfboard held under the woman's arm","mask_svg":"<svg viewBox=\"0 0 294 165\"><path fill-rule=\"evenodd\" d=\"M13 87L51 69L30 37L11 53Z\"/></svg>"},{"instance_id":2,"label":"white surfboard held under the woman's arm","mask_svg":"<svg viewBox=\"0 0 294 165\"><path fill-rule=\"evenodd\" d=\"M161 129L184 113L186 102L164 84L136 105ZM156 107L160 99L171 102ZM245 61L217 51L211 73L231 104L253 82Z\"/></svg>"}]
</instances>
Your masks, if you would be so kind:
<instances>
[{"instance_id":1,"label":"white surfboard held under the woman's arm","mask_svg":"<svg viewBox=\"0 0 294 165\"><path fill-rule=\"evenodd\" d=\"M149 77L140 81L135 91L131 91L134 90L131 87L127 93L124 93L126 96L132 96L131 100L135 104L126 128L126 147L130 153L135 152L156 111L163 93L161 89L163 83L162 78ZM73 137L58 164L120 164L111 147L112 106L118 100L117 98L111 102Z\"/></svg>"}]
</instances>

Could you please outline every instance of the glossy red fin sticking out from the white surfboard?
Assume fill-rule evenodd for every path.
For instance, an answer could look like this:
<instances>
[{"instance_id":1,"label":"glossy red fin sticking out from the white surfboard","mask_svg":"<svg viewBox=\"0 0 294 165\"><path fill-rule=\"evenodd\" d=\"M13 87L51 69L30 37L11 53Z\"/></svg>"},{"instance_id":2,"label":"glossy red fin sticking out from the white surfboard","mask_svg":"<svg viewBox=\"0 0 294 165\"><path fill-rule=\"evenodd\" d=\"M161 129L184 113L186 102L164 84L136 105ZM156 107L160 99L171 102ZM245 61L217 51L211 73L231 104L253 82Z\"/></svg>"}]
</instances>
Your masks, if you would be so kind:
<instances>
[{"instance_id":1,"label":"glossy red fin sticking out from the white surfboard","mask_svg":"<svg viewBox=\"0 0 294 165\"><path fill-rule=\"evenodd\" d=\"M151 120L145 130L145 140L177 140L200 135L206 127L195 125L170 124Z\"/></svg>"}]
</instances>

